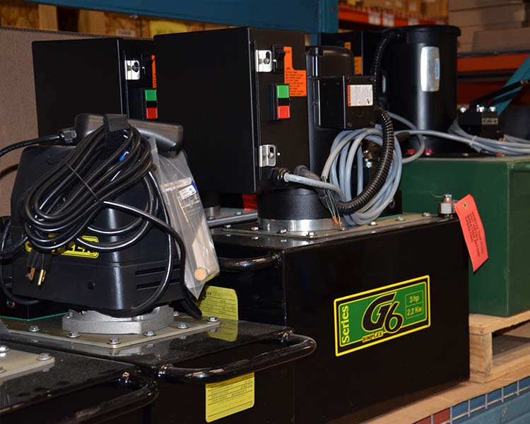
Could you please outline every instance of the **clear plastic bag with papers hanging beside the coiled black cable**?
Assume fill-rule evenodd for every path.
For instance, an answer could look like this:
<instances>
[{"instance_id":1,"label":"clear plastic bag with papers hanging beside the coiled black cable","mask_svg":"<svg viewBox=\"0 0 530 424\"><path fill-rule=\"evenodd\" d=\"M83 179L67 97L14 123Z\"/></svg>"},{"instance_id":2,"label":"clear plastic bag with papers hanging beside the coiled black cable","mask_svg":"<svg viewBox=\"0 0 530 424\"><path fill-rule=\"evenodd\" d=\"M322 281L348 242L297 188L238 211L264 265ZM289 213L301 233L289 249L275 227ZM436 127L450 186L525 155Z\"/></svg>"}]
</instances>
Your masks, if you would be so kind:
<instances>
[{"instance_id":1,"label":"clear plastic bag with papers hanging beside the coiled black cable","mask_svg":"<svg viewBox=\"0 0 530 424\"><path fill-rule=\"evenodd\" d=\"M184 153L180 152L172 158L158 155L155 140L151 138L149 142L156 167L155 175L170 214L171 226L186 246L184 283L195 298L199 298L206 281L219 273L216 250L201 198Z\"/></svg>"}]
</instances>

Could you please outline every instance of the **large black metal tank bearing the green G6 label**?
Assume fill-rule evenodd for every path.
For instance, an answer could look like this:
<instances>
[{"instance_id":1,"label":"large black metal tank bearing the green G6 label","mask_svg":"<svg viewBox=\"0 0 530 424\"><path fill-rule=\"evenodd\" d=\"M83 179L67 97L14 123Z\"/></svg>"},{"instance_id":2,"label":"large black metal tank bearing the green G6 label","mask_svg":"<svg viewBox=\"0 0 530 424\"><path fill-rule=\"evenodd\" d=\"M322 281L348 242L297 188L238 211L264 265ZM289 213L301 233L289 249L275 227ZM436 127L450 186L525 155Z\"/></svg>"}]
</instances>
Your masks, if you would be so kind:
<instances>
[{"instance_id":1,"label":"large black metal tank bearing the green G6 label","mask_svg":"<svg viewBox=\"0 0 530 424\"><path fill-rule=\"evenodd\" d=\"M469 378L467 252L457 219L406 216L311 235L216 228L241 319L293 326L317 351L297 363L296 423L357 423Z\"/></svg>"}]
</instances>

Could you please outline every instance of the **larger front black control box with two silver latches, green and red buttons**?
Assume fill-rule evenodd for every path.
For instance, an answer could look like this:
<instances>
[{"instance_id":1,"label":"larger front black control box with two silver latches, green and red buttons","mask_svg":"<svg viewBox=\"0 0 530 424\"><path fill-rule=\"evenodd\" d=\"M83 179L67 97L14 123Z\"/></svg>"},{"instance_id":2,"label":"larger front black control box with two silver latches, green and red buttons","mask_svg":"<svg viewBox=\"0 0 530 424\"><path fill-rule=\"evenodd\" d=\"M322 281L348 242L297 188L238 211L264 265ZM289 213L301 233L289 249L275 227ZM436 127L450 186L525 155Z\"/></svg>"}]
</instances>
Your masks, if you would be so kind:
<instances>
[{"instance_id":1,"label":"larger front black control box with two silver latches, green and red buttons","mask_svg":"<svg viewBox=\"0 0 530 424\"><path fill-rule=\"evenodd\" d=\"M261 193L274 167L309 163L303 33L159 35L155 54L159 117L184 126L201 192Z\"/></svg>"}]
</instances>

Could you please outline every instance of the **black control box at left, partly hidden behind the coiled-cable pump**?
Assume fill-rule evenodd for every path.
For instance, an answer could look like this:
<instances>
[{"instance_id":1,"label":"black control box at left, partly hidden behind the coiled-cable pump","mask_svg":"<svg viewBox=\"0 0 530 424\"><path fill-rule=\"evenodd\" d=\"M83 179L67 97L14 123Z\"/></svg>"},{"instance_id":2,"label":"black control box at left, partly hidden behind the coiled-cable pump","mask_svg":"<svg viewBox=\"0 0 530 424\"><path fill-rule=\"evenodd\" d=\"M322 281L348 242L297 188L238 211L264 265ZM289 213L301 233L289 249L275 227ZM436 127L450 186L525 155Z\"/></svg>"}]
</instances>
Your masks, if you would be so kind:
<instances>
[{"instance_id":1,"label":"black control box at left, partly hidden behind the coiled-cable pump","mask_svg":"<svg viewBox=\"0 0 530 424\"><path fill-rule=\"evenodd\" d=\"M151 40L33 42L33 70L40 136L71 126L81 113L158 117Z\"/></svg>"}]
</instances>

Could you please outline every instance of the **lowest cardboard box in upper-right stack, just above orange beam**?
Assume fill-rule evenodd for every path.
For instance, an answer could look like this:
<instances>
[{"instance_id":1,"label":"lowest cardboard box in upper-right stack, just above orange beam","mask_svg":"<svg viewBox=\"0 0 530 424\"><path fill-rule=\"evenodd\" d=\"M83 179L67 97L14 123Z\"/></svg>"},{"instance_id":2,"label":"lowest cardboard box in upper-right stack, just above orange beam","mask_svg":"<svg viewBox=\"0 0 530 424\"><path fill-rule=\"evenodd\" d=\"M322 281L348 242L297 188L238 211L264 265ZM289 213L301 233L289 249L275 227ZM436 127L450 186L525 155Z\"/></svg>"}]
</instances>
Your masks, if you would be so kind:
<instances>
[{"instance_id":1,"label":"lowest cardboard box in upper-right stack, just above orange beam","mask_svg":"<svg viewBox=\"0 0 530 424\"><path fill-rule=\"evenodd\" d=\"M480 31L473 37L473 52L528 49L530 27Z\"/></svg>"}]
</instances>

